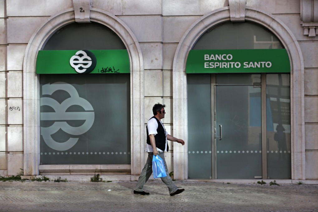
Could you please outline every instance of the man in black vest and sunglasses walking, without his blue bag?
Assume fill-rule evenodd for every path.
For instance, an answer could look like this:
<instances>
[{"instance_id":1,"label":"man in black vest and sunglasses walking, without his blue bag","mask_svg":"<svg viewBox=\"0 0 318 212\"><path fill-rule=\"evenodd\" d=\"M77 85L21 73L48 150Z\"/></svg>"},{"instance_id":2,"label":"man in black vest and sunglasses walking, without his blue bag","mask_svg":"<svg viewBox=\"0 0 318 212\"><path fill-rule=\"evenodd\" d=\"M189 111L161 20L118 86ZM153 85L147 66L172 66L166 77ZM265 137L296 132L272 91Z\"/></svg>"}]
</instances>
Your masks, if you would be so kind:
<instances>
[{"instance_id":1,"label":"man in black vest and sunglasses walking, without his blue bag","mask_svg":"<svg viewBox=\"0 0 318 212\"><path fill-rule=\"evenodd\" d=\"M164 118L165 105L162 105L160 103L155 104L152 107L152 112L154 116L149 119L147 122L147 144L146 144L146 152L148 152L148 158L146 161L146 164L144 168L142 169L142 172L140 173L138 182L134 188L134 194L140 194L140 195L149 195L148 192L145 192L143 190L143 186L148 181L149 177L152 174L152 157L153 155L159 155L159 157L162 158L164 162L164 166L166 168L166 177L161 177L162 182L166 184L166 186L169 189L170 196L174 196L177 194L180 194L184 191L184 189L178 189L176 185L172 182L167 168L167 163L164 158L164 152L169 151L168 141L175 141L177 143L180 143L184 145L184 141L181 139L177 139L171 135L169 135L164 128L161 119Z\"/></svg>"}]
</instances>

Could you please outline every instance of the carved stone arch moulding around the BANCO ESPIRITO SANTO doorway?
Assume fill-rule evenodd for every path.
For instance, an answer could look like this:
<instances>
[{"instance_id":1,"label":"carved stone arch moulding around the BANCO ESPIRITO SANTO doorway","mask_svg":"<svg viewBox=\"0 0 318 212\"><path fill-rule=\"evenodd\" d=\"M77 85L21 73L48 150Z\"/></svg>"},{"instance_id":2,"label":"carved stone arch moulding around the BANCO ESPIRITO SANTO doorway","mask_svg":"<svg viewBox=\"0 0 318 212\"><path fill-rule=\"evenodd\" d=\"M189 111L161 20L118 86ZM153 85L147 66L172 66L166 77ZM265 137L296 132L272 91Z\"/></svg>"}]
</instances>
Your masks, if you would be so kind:
<instances>
[{"instance_id":1,"label":"carved stone arch moulding around the BANCO ESPIRITO SANTO doorway","mask_svg":"<svg viewBox=\"0 0 318 212\"><path fill-rule=\"evenodd\" d=\"M251 7L245 9L245 20L272 31L287 50L291 65L291 149L292 179L305 179L305 125L304 125L304 64L300 46L288 27L266 12ZM212 26L231 21L229 7L206 14L184 33L173 61L173 131L177 138L187 140L187 76L185 64L188 53L200 36ZM174 177L187 179L187 146L174 147Z\"/></svg>"}]
</instances>

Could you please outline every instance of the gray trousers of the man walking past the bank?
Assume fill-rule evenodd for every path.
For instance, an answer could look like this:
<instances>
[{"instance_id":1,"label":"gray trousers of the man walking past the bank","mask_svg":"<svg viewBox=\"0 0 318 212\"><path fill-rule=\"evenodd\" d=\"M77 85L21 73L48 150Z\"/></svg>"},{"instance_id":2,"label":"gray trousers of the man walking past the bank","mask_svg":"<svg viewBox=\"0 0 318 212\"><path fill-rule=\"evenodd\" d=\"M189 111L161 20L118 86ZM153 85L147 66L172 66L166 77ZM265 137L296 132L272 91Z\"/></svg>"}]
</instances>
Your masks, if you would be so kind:
<instances>
[{"instance_id":1,"label":"gray trousers of the man walking past the bank","mask_svg":"<svg viewBox=\"0 0 318 212\"><path fill-rule=\"evenodd\" d=\"M161 159L164 162L164 167L166 168L166 177L161 177L162 182L164 182L164 184L166 184L166 186L169 189L169 194L172 194L174 192L176 192L176 190L178 190L178 188L176 187L176 185L172 182L171 177L169 176L168 173L168 168L167 168L167 163L166 160L164 158L164 153L163 152L158 152L159 157L161 157ZM146 182L148 181L149 177L152 174L152 157L153 157L154 153L153 152L149 152L148 153L148 158L146 161L146 164L144 166L144 168L142 169L137 185L135 186L134 190L135 191L143 191L143 186L146 184Z\"/></svg>"}]
</instances>

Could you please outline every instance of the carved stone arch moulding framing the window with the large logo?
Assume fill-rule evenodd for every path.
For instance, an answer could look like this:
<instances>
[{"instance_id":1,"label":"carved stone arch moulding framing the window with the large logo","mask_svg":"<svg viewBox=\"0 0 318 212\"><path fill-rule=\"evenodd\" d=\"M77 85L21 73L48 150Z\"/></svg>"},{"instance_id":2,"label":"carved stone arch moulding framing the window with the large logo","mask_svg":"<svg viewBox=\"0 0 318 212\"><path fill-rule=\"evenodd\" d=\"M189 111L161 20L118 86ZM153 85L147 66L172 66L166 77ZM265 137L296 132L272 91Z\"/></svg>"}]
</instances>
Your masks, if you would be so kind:
<instances>
[{"instance_id":1,"label":"carved stone arch moulding framing the window with the large logo","mask_svg":"<svg viewBox=\"0 0 318 212\"><path fill-rule=\"evenodd\" d=\"M112 29L125 44L130 61L131 96L131 173L139 174L143 158L143 58L140 45L130 28L113 14L91 8L90 21ZM24 175L39 174L39 81L36 74L36 58L52 34L61 27L74 23L74 10L64 10L49 17L32 35L23 62L23 99L24 99Z\"/></svg>"}]
</instances>

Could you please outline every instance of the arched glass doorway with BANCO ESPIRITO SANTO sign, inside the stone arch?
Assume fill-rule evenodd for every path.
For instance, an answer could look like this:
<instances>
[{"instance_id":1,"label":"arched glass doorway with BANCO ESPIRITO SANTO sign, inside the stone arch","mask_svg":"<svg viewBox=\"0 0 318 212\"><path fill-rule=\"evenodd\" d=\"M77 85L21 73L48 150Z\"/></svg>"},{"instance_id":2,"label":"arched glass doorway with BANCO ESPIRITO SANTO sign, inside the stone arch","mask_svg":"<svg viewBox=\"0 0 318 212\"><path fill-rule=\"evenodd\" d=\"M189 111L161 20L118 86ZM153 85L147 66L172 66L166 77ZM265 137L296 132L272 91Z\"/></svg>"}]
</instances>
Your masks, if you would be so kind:
<instances>
[{"instance_id":1,"label":"arched glass doorway with BANCO ESPIRITO SANTO sign, inside the stone arch","mask_svg":"<svg viewBox=\"0 0 318 212\"><path fill-rule=\"evenodd\" d=\"M192 50L186 67L189 178L290 179L290 65L278 38L251 22L225 22ZM200 52L204 69L191 67Z\"/></svg>"}]
</instances>

